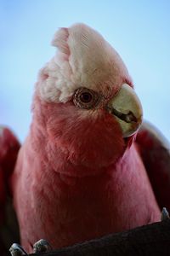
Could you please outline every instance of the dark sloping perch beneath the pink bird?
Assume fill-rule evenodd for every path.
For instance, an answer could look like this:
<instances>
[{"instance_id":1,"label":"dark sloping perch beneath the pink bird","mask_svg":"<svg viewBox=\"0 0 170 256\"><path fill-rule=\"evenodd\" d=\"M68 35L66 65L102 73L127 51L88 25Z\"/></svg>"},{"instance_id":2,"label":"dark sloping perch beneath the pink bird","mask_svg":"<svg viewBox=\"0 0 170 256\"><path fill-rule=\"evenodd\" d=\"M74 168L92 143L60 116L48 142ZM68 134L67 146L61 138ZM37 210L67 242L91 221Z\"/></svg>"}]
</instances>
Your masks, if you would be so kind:
<instances>
[{"instance_id":1,"label":"dark sloping perch beneath the pink bird","mask_svg":"<svg viewBox=\"0 0 170 256\"><path fill-rule=\"evenodd\" d=\"M43 256L146 256L170 255L170 219L145 225L133 230L86 241L51 253L30 255Z\"/></svg>"}]
</instances>

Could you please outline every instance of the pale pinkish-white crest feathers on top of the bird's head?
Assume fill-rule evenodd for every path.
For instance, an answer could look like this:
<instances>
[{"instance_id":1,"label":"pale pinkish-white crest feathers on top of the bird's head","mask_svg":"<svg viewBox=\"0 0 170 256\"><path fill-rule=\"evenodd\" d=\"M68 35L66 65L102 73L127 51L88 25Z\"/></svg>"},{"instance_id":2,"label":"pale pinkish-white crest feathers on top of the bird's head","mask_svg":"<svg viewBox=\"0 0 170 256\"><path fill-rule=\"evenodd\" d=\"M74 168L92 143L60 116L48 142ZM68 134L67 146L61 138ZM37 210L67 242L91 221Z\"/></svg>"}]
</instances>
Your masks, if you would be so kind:
<instances>
[{"instance_id":1,"label":"pale pinkish-white crest feathers on top of the bird's head","mask_svg":"<svg viewBox=\"0 0 170 256\"><path fill-rule=\"evenodd\" d=\"M130 80L116 50L84 24L60 28L52 44L58 51L42 68L37 82L39 95L47 102L67 102L79 87L105 94L118 88L123 79Z\"/></svg>"}]
</instances>

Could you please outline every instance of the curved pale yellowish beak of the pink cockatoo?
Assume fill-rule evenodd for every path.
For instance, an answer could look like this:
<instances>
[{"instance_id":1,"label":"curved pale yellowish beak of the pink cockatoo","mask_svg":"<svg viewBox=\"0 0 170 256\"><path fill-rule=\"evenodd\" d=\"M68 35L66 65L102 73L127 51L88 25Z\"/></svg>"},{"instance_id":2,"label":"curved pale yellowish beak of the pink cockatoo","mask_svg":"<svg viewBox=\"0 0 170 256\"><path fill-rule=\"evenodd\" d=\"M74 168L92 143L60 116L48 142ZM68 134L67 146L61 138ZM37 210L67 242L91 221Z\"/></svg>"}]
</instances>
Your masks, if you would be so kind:
<instances>
[{"instance_id":1,"label":"curved pale yellowish beak of the pink cockatoo","mask_svg":"<svg viewBox=\"0 0 170 256\"><path fill-rule=\"evenodd\" d=\"M106 107L121 126L123 137L130 137L142 124L143 111L139 97L128 84L122 84L121 90Z\"/></svg>"}]
</instances>

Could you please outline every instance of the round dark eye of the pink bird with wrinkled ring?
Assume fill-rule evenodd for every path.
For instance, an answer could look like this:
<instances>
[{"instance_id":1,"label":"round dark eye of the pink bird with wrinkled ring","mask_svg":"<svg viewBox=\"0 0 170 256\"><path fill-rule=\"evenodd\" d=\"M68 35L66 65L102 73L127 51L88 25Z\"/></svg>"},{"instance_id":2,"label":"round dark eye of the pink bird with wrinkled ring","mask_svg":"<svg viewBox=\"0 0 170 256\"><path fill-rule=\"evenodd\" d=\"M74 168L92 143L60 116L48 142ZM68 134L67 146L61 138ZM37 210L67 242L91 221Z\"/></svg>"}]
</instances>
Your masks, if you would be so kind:
<instances>
[{"instance_id":1,"label":"round dark eye of the pink bird with wrinkled ring","mask_svg":"<svg viewBox=\"0 0 170 256\"><path fill-rule=\"evenodd\" d=\"M88 88L78 88L75 91L73 102L79 108L94 108L99 102L99 94Z\"/></svg>"}]
</instances>

